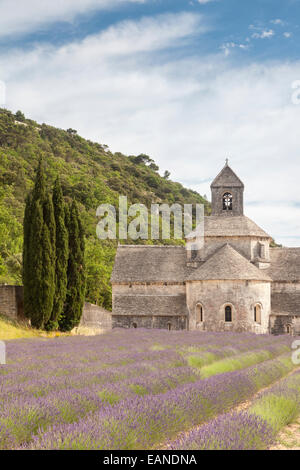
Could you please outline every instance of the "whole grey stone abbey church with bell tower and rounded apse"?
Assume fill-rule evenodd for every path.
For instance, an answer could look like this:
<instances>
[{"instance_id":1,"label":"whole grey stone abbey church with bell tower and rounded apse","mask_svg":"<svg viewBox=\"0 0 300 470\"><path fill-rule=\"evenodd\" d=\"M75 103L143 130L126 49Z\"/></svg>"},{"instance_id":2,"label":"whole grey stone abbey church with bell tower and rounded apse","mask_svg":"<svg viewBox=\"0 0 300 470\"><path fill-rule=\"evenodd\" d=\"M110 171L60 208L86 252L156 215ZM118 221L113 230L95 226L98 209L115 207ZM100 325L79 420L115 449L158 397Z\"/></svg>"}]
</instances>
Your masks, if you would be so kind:
<instances>
[{"instance_id":1,"label":"whole grey stone abbey church with bell tower and rounded apse","mask_svg":"<svg viewBox=\"0 0 300 470\"><path fill-rule=\"evenodd\" d=\"M226 163L211 184L204 245L121 245L112 273L114 327L300 333L300 248L244 215L244 184Z\"/></svg>"}]
</instances>

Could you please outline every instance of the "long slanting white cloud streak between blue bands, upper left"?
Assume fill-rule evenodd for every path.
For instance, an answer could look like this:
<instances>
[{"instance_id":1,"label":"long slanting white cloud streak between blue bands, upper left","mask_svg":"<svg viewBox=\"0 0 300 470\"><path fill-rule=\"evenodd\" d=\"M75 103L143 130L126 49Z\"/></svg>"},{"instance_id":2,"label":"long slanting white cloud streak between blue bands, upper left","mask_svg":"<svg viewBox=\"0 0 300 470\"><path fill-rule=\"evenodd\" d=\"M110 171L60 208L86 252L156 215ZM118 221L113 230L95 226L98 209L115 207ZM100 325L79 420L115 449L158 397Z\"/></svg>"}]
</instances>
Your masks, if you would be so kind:
<instances>
[{"instance_id":1,"label":"long slanting white cloud streak between blue bands, upper left","mask_svg":"<svg viewBox=\"0 0 300 470\"><path fill-rule=\"evenodd\" d=\"M74 69L84 74L85 67L99 67L99 64L118 60L122 56L135 57L135 54L171 48L184 44L193 34L204 33L207 26L202 16L192 13L162 14L144 17L139 21L122 21L110 26L99 34L88 36L82 41L73 42L60 48L42 45L30 52L9 50L0 56L0 65L6 77L15 73L23 77L32 76L37 66L55 68L70 76ZM1 69L0 69L1 70ZM41 71L43 74L43 71ZM10 78L8 79L10 80Z\"/></svg>"}]
</instances>

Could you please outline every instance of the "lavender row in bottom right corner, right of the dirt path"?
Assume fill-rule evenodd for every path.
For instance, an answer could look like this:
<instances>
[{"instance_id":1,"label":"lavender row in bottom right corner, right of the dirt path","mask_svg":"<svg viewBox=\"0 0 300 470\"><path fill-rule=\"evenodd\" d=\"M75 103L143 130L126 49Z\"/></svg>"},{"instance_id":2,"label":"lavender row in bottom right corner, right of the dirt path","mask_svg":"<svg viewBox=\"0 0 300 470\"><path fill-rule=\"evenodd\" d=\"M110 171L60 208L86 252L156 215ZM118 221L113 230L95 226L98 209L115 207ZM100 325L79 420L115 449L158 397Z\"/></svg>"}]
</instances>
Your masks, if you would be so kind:
<instances>
[{"instance_id":1,"label":"lavender row in bottom right corner, right of the dirt path","mask_svg":"<svg viewBox=\"0 0 300 470\"><path fill-rule=\"evenodd\" d=\"M263 450L278 431L300 414L300 371L254 400L247 411L229 412L180 436L169 446L178 450Z\"/></svg>"}]
</instances>

